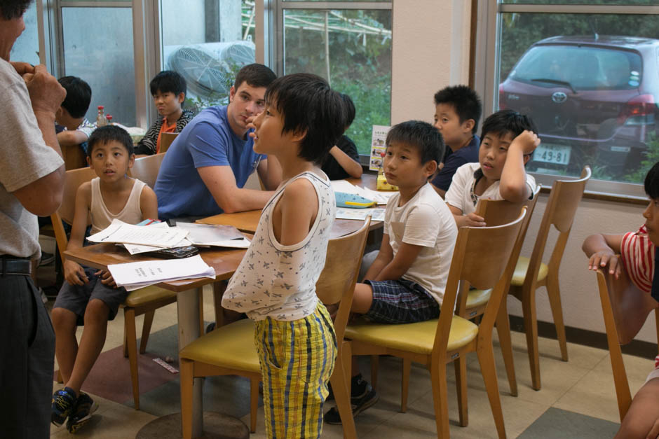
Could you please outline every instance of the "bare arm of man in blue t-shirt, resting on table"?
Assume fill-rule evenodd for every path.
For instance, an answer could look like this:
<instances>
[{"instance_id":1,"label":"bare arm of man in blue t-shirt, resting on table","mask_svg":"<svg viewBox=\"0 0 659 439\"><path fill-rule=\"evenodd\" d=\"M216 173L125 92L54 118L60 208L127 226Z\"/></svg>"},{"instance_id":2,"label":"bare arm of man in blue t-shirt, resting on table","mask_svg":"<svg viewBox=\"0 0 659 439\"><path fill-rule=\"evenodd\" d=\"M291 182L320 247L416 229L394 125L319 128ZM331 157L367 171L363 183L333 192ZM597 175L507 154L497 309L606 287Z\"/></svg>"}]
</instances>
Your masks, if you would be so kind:
<instances>
[{"instance_id":1,"label":"bare arm of man in blue t-shirt, resting on table","mask_svg":"<svg viewBox=\"0 0 659 439\"><path fill-rule=\"evenodd\" d=\"M227 214L263 209L273 195L271 191L238 188L229 166L199 167L197 172L217 205Z\"/></svg>"}]
</instances>

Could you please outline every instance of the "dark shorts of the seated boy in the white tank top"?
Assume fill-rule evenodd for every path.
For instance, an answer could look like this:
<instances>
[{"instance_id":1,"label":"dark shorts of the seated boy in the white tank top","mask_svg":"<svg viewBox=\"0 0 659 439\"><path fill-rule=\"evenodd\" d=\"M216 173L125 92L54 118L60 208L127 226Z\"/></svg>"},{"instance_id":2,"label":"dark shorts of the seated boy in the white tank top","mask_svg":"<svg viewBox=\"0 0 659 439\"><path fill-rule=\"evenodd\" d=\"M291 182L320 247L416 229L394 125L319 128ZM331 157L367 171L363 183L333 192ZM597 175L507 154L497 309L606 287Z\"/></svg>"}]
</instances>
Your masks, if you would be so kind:
<instances>
[{"instance_id":1,"label":"dark shorts of the seated boy in the white tank top","mask_svg":"<svg viewBox=\"0 0 659 439\"><path fill-rule=\"evenodd\" d=\"M123 287L113 288L103 284L100 277L94 275L98 271L96 268L83 268L89 281L84 285L72 285L64 281L60 292L57 293L53 308L64 308L73 312L78 316L76 323L82 326L85 323L85 309L87 309L87 304L92 299L100 299L110 309L107 319L114 320L119 305L128 297L128 291Z\"/></svg>"}]
</instances>

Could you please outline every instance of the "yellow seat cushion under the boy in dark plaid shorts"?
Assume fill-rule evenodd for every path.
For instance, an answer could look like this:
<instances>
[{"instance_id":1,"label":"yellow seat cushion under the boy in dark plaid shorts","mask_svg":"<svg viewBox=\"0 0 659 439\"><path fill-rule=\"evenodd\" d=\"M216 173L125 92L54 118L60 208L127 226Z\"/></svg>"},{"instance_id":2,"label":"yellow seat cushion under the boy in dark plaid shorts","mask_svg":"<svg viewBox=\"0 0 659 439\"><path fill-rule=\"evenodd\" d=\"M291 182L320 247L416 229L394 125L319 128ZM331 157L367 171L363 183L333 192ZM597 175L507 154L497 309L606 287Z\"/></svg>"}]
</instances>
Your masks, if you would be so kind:
<instances>
[{"instance_id":1,"label":"yellow seat cushion under the boy in dark plaid shorts","mask_svg":"<svg viewBox=\"0 0 659 439\"><path fill-rule=\"evenodd\" d=\"M436 331L437 319L401 325L362 320L348 326L345 337L415 354L430 354L435 344ZM474 340L477 334L477 325L460 316L453 316L447 351L465 346Z\"/></svg>"}]
</instances>

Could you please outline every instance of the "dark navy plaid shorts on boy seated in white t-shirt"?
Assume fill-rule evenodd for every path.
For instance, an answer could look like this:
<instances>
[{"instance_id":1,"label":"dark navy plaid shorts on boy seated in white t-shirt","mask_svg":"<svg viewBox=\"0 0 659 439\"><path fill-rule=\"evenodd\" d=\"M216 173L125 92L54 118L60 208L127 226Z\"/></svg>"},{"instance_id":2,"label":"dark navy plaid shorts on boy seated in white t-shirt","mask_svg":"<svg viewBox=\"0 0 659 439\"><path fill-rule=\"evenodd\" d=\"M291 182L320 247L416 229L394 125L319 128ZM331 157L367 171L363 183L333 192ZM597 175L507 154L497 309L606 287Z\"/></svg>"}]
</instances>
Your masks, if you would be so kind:
<instances>
[{"instance_id":1,"label":"dark navy plaid shorts on boy seated in white t-shirt","mask_svg":"<svg viewBox=\"0 0 659 439\"><path fill-rule=\"evenodd\" d=\"M440 305L416 282L407 279L364 282L373 288L373 302L364 314L370 321L415 323L440 316Z\"/></svg>"}]
</instances>

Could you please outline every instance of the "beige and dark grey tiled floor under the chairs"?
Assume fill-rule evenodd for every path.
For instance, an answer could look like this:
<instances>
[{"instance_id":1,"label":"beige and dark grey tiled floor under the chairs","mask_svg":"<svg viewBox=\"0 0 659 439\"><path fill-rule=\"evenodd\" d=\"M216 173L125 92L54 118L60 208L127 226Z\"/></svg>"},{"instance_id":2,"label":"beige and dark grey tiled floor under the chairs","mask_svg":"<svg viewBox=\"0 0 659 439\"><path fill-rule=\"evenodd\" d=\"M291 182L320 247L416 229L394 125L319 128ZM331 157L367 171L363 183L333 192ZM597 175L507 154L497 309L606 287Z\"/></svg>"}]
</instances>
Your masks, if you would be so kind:
<instances>
[{"instance_id":1,"label":"beige and dark grey tiled floor under the chairs","mask_svg":"<svg viewBox=\"0 0 659 439\"><path fill-rule=\"evenodd\" d=\"M210 288L204 291L205 320L212 320L212 293ZM176 305L158 309L151 333L168 328L176 322ZM142 320L138 317L137 331L140 332ZM169 332L169 331L168 331ZM79 335L81 328L79 329ZM496 335L496 331L495 331ZM177 340L171 337L172 351ZM495 340L496 368L499 378L501 403L505 428L509 438L516 438L529 428L550 407L585 414L589 417L618 422L618 406L613 390L611 365L608 352L578 344L569 344L569 362L559 358L559 347L555 340L539 340L541 351L541 391L530 387L529 362L526 355L526 342L522 333L512 333L515 349L515 371L519 396L510 396L508 380L505 378L503 361ZM165 340L168 342L168 340ZM107 342L104 351L121 346L123 343L123 313L119 312L109 324ZM148 350L148 348L147 348ZM652 367L650 359L625 356L625 366L630 379L632 395L636 393ZM368 361L365 359L362 372L369 375ZM454 387L454 370L447 368L449 379L449 418L451 419L451 437L453 438L494 438L494 420L484 391L480 366L475 355L468 358L468 410L469 425L457 425L456 395ZM433 415L433 398L430 393L428 372L419 365L412 368L409 384L409 401L406 413L400 412L400 361L395 358L382 358L379 372L380 400L374 407L360 414L356 426L360 438L432 438L436 437ZM60 384L53 383L54 386ZM206 406L224 407L234 414L242 416L249 424L248 385L238 377L207 379L204 386L205 400L212 401ZM137 431L152 419L162 414L175 412L179 407L178 381L164 384L158 389L142 394L142 410L134 410L132 400L125 404L115 403L103 398L96 398L100 403L99 416L76 434L80 438L134 438ZM329 407L329 405L328 405ZM252 438L263 438L264 414L259 407L257 433ZM558 417L560 419L560 417ZM543 428L548 428L544 426ZM549 426L551 428L551 425ZM555 428L560 430L561 425ZM609 427L611 428L611 427ZM545 430L546 431L546 430ZM65 428L51 428L51 434L57 438L66 437ZM340 426L325 425L322 437L342 438ZM529 437L526 433L524 437ZM540 436L538 436L540 437Z\"/></svg>"}]
</instances>

